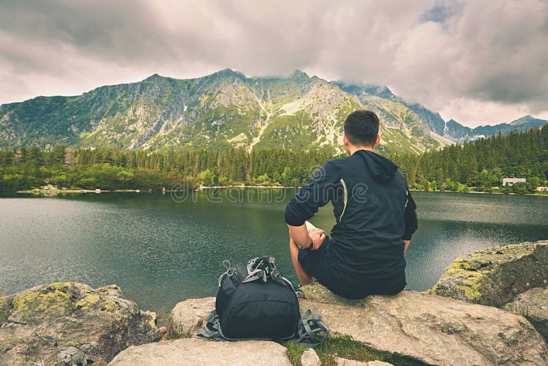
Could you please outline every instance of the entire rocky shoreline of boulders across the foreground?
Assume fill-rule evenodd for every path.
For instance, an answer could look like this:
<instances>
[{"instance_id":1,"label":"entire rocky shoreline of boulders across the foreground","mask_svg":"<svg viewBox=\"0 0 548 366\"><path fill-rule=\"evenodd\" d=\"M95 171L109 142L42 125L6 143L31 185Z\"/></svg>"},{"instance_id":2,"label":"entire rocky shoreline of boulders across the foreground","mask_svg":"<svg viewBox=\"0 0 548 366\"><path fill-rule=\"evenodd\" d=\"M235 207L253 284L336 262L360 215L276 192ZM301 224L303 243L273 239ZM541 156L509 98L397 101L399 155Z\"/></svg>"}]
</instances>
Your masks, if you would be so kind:
<instances>
[{"instance_id":1,"label":"entire rocky shoreline of boulders across the foreground","mask_svg":"<svg viewBox=\"0 0 548 366\"><path fill-rule=\"evenodd\" d=\"M371 350L361 358L199 339L214 297L179 302L159 329L116 285L57 282L0 297L0 365L548 365L547 282L548 241L538 241L459 258L428 293L345 300L303 286L301 310L323 317L332 344Z\"/></svg>"}]
</instances>

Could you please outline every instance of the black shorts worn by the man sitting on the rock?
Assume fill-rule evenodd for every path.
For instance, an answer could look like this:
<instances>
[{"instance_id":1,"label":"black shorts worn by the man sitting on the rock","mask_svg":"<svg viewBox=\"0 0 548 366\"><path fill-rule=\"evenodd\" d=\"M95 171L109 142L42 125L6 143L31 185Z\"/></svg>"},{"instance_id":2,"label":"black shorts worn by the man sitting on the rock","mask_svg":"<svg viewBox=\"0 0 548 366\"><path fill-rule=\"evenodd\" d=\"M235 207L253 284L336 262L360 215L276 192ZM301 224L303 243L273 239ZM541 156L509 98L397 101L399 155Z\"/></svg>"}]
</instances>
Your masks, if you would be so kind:
<instances>
[{"instance_id":1,"label":"black shorts worn by the man sitting on the rock","mask_svg":"<svg viewBox=\"0 0 548 366\"><path fill-rule=\"evenodd\" d=\"M406 273L396 273L393 278L366 278L349 275L333 267L327 249L333 239L327 238L319 249L299 250L299 263L308 276L316 278L336 295L347 299L363 299L369 295L395 295L406 286Z\"/></svg>"}]
</instances>

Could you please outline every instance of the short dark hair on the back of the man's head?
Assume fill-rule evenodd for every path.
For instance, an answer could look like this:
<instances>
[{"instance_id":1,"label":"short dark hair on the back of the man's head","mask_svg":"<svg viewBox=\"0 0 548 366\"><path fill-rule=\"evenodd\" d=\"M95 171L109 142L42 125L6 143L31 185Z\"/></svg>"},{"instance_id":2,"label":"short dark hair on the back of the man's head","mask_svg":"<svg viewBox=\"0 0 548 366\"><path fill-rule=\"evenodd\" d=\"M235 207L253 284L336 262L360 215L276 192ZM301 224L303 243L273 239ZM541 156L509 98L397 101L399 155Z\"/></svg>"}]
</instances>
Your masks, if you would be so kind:
<instances>
[{"instance_id":1,"label":"short dark hair on the back of the man's head","mask_svg":"<svg viewBox=\"0 0 548 366\"><path fill-rule=\"evenodd\" d=\"M371 110L355 110L345 120L345 136L353 145L373 146L379 135L379 117Z\"/></svg>"}]
</instances>

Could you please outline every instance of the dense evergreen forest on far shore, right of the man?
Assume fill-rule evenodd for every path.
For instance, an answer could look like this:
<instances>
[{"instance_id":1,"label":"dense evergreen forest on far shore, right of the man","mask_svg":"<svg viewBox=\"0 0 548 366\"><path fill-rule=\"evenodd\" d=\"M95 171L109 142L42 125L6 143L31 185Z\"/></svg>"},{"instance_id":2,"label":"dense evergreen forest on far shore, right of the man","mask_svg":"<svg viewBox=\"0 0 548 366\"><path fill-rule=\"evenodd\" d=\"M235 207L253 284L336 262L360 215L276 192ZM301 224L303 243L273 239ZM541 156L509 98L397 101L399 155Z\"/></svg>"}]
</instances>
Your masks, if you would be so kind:
<instances>
[{"instance_id":1,"label":"dense evergreen forest on far shore, right of the man","mask_svg":"<svg viewBox=\"0 0 548 366\"><path fill-rule=\"evenodd\" d=\"M440 150L391 156L411 188L440 191L526 193L548 180L548 125L526 132L480 138ZM502 187L503 178L526 178Z\"/></svg>"}]
</instances>

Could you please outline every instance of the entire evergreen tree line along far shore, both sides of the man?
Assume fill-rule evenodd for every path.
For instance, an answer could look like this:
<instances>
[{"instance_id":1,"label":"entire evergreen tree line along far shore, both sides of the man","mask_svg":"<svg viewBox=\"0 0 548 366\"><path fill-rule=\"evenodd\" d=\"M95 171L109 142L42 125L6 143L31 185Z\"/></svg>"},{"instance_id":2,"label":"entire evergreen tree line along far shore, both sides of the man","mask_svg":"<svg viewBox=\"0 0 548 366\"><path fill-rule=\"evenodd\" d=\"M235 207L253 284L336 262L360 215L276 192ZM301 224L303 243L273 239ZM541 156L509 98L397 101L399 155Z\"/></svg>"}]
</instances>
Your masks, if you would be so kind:
<instances>
[{"instance_id":1,"label":"entire evergreen tree line along far shore, both sides of the man","mask_svg":"<svg viewBox=\"0 0 548 366\"><path fill-rule=\"evenodd\" d=\"M58 145L0 150L0 191L45 184L104 190L170 189L184 184L299 186L327 160L319 151L245 149L145 151L69 149ZM391 155L410 188L427 191L525 193L547 186L548 125L541 129L449 145L422 155ZM503 178L527 178L502 188ZM496 188L495 188L496 189Z\"/></svg>"}]
</instances>

